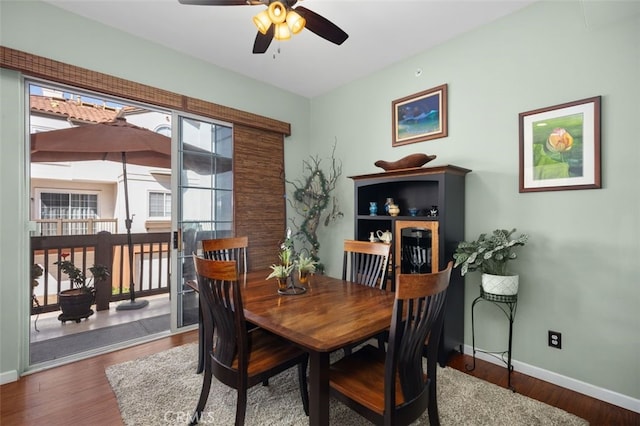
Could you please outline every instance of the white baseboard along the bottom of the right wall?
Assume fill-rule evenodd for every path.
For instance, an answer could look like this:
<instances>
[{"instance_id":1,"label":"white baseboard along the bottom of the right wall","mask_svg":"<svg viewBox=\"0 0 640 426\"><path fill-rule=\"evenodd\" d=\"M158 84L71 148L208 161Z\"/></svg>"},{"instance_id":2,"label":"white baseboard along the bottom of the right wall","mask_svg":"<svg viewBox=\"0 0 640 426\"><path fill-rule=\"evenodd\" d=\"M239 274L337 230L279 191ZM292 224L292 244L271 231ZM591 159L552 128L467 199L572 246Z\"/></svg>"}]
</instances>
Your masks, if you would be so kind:
<instances>
[{"instance_id":1,"label":"white baseboard along the bottom of the right wall","mask_svg":"<svg viewBox=\"0 0 640 426\"><path fill-rule=\"evenodd\" d=\"M473 348L469 345L464 345L464 353L472 356ZM506 365L500 359L489 354L478 352L476 350L476 358L492 364L500 365L506 369ZM511 360L511 363L513 364L514 371L519 373L544 380L545 382L553 383L554 385L608 402L609 404L617 405L618 407L622 407L626 410L640 413L640 399L631 398L630 396L594 386L571 377L563 376L562 374L554 373L553 371L544 370L540 367L529 365L518 360Z\"/></svg>"}]
</instances>

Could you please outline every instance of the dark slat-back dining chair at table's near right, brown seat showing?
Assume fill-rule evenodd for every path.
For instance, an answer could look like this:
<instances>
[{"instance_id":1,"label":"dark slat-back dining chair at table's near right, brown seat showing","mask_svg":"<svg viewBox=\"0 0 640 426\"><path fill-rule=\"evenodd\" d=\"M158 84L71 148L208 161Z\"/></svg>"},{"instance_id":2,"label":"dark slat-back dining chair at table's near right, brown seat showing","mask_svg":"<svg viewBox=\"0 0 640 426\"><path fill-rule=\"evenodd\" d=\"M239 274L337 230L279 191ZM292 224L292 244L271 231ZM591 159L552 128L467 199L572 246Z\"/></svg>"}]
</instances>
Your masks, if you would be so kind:
<instances>
[{"instance_id":1,"label":"dark slat-back dining chair at table's near right, brown seat showing","mask_svg":"<svg viewBox=\"0 0 640 426\"><path fill-rule=\"evenodd\" d=\"M438 342L453 262L431 274L399 274L387 352L367 345L331 365L331 394L369 421L406 425L429 411L440 424L436 395ZM426 374L424 342L428 345Z\"/></svg>"}]
</instances>

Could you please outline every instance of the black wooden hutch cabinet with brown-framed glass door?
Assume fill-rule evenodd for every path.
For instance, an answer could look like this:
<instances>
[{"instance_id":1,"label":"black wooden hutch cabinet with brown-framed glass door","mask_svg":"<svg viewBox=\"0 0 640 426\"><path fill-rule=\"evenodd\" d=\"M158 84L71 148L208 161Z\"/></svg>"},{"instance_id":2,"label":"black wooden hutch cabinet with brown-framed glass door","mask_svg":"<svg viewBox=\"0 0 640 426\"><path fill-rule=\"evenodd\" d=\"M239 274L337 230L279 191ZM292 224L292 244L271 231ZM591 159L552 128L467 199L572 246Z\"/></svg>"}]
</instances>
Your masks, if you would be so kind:
<instances>
[{"instance_id":1,"label":"black wooden hutch cabinet with brown-framed glass door","mask_svg":"<svg viewBox=\"0 0 640 426\"><path fill-rule=\"evenodd\" d=\"M368 240L378 230L392 233L388 289L395 288L398 273L435 272L453 259L458 242L464 240L465 176L469 172L448 165L350 176L355 184L354 238ZM387 198L393 198L400 208L398 216L385 213ZM370 214L371 202L377 203L377 215ZM413 207L419 209L416 216L409 215ZM464 280L458 269L451 275L441 339L438 362L444 366L451 351L462 351L464 343Z\"/></svg>"}]
</instances>

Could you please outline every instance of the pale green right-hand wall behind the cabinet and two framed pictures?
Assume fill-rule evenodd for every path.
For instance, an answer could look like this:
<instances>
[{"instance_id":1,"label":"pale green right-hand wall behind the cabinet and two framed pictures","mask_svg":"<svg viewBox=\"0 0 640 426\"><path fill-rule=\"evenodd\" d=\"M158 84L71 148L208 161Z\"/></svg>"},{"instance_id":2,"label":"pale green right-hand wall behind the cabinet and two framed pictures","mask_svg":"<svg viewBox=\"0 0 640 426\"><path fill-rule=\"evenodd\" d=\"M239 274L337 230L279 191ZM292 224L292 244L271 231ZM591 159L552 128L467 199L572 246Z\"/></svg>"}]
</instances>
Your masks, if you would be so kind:
<instances>
[{"instance_id":1,"label":"pale green right-hand wall behind the cabinet and two framed pictures","mask_svg":"<svg viewBox=\"0 0 640 426\"><path fill-rule=\"evenodd\" d=\"M530 370L635 398L638 410L640 179L634 171L640 164L640 3L597 5L602 8L583 11L580 2L538 3L314 98L311 143L323 146L337 138L345 176L381 172L376 160L416 152L437 155L433 165L472 169L466 180L467 239L496 228L530 234L511 265L521 275L515 359ZM443 83L449 89L449 136L393 148L391 102ZM518 114L597 95L603 188L520 194ZM345 219L337 232L323 228L320 234L332 275L341 266L331 253L353 235L353 181L343 179L338 193ZM466 278L468 345L479 282L479 273ZM481 347L506 349L505 317L490 305L481 308ZM548 330L562 333L561 350L547 346Z\"/></svg>"}]
</instances>

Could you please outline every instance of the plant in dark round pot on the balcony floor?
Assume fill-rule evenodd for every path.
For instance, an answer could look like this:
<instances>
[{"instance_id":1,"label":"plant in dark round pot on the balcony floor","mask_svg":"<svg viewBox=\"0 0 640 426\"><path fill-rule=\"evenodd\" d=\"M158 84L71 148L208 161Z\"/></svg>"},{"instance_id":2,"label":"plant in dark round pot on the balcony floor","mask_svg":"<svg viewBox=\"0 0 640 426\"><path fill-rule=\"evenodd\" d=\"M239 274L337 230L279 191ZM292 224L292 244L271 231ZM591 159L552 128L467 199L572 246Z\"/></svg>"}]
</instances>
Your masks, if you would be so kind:
<instances>
[{"instance_id":1,"label":"plant in dark round pot on the balcony floor","mask_svg":"<svg viewBox=\"0 0 640 426\"><path fill-rule=\"evenodd\" d=\"M62 290L58 294L58 302L62 313L58 319L65 323L73 320L80 322L82 318L93 315L91 305L95 300L94 282L106 280L109 277L109 269L104 265L93 265L89 268L92 277L87 280L85 273L71 261L66 260L67 255L62 255L64 260L55 262L60 271L67 274L71 281L71 289Z\"/></svg>"}]
</instances>

